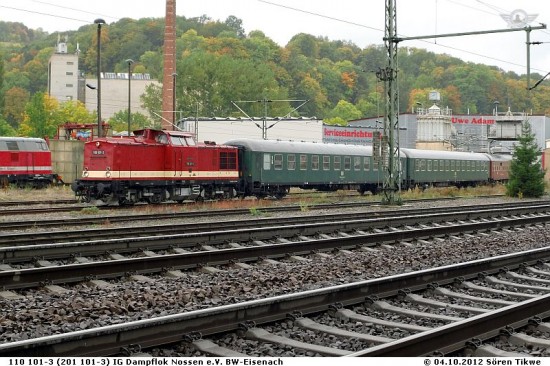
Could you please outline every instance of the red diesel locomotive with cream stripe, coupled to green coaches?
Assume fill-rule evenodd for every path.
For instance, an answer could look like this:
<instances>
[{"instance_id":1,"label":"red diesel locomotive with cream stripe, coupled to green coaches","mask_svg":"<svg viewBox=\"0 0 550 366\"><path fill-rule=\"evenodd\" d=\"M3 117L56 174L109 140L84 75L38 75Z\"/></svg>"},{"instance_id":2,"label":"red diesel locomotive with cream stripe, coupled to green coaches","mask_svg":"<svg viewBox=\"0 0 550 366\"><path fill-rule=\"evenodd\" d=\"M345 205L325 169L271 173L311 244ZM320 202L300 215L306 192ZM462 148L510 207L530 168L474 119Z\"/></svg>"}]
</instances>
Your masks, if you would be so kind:
<instances>
[{"instance_id":1,"label":"red diesel locomotive with cream stripe, coupled to green coaches","mask_svg":"<svg viewBox=\"0 0 550 366\"><path fill-rule=\"evenodd\" d=\"M237 153L179 131L98 138L85 144L82 178L72 189L86 202L119 204L231 198L239 179Z\"/></svg>"}]
</instances>

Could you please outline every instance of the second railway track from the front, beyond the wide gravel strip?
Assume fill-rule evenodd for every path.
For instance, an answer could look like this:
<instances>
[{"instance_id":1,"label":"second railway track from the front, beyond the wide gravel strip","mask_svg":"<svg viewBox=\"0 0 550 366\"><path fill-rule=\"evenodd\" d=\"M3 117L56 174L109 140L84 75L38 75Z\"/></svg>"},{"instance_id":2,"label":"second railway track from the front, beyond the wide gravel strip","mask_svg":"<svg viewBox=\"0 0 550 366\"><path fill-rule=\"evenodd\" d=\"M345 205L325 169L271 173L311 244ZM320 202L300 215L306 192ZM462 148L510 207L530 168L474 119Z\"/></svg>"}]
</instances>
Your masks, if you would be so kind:
<instances>
[{"instance_id":1,"label":"second railway track from the front, beyond the wide gravel strip","mask_svg":"<svg viewBox=\"0 0 550 366\"><path fill-rule=\"evenodd\" d=\"M376 243L446 237L463 232L491 232L505 227L544 224L550 206L487 205L386 212L376 218L357 219L357 213L274 219L168 224L146 228L91 229L76 232L5 234L0 241L0 286L33 286L63 276L82 279L79 273L120 276L149 268L189 268L204 263L308 254ZM141 229L141 230L140 230ZM87 240L83 241L82 236ZM70 241L78 238L78 241ZM200 244L199 244L200 243ZM134 258L142 257L142 258ZM127 259L126 259L127 258ZM125 263L117 262L125 260ZM157 264L148 264L156 261ZM145 263L142 263L145 262ZM65 274L61 266L75 264ZM111 263L111 264L109 264ZM25 277L21 270L36 268ZM100 269L102 268L102 269ZM17 275L10 280L10 272ZM56 274L54 275L55 272ZM29 282L25 282L25 278ZM41 280L40 280L41 279Z\"/></svg>"}]
</instances>

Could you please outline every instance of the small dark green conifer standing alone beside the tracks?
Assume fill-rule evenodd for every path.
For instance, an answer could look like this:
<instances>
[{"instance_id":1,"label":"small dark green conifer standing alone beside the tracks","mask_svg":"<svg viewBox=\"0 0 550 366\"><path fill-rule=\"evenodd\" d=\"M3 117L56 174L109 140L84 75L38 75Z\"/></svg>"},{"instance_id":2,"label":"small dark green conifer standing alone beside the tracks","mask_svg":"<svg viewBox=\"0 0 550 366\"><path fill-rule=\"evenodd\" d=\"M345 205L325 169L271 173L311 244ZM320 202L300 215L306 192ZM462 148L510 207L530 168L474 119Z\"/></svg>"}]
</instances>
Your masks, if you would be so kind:
<instances>
[{"instance_id":1,"label":"small dark green conifer standing alone beside the tracks","mask_svg":"<svg viewBox=\"0 0 550 366\"><path fill-rule=\"evenodd\" d=\"M539 160L540 149L525 121L521 137L513 153L510 166L510 179L506 185L506 195L510 197L540 197L544 194L544 171Z\"/></svg>"}]
</instances>

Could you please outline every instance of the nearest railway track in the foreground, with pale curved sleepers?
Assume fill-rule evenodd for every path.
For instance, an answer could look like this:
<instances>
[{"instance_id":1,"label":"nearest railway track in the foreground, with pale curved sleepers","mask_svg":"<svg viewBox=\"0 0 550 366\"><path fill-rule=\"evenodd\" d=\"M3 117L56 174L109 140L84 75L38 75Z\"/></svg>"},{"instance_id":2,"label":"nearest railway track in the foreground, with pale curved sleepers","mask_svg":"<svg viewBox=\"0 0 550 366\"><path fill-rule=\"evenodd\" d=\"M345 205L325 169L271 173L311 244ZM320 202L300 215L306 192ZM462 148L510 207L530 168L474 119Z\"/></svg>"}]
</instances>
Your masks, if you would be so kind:
<instances>
[{"instance_id":1,"label":"nearest railway track in the foreground, with pale curved sleepers","mask_svg":"<svg viewBox=\"0 0 550 366\"><path fill-rule=\"evenodd\" d=\"M272 356L526 357L499 349L497 338L506 334L525 352L548 345L543 335L530 334L549 326L541 321L550 315L549 260L549 248L530 250L0 344L0 355L143 356L176 349L262 356L243 352L252 342L251 350L269 349Z\"/></svg>"}]
</instances>

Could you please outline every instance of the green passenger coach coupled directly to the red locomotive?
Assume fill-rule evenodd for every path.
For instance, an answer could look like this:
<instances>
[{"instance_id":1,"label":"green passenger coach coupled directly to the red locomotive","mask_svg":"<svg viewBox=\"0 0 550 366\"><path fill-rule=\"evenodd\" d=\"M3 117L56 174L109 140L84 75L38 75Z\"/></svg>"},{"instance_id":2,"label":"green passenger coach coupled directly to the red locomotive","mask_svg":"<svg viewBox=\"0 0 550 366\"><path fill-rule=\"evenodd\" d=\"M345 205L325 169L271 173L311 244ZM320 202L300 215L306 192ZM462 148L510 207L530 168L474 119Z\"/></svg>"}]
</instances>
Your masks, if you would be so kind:
<instances>
[{"instance_id":1,"label":"green passenger coach coupled directly to the red locomotive","mask_svg":"<svg viewBox=\"0 0 550 366\"><path fill-rule=\"evenodd\" d=\"M376 193L383 181L372 147L278 140L231 140L239 147L244 195L285 196L291 187Z\"/></svg>"}]
</instances>

